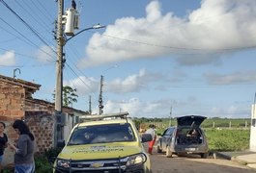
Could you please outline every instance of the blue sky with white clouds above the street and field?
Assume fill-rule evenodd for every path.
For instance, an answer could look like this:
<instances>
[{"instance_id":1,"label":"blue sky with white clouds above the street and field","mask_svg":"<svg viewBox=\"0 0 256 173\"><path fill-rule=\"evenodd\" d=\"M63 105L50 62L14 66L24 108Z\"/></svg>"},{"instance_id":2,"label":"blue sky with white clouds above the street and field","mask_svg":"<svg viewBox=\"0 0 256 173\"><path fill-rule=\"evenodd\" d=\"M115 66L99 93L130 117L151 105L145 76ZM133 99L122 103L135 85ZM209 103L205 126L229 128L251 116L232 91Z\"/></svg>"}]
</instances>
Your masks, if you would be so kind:
<instances>
[{"instance_id":1,"label":"blue sky with white clouds above the street and field","mask_svg":"<svg viewBox=\"0 0 256 173\"><path fill-rule=\"evenodd\" d=\"M255 0L75 0L79 29L64 46L72 107L131 117L250 118L256 91ZM0 1L0 74L56 87L55 0ZM64 0L65 11L71 0ZM64 26L65 27L65 26ZM69 38L69 36L66 36ZM16 69L16 70L15 70Z\"/></svg>"}]
</instances>

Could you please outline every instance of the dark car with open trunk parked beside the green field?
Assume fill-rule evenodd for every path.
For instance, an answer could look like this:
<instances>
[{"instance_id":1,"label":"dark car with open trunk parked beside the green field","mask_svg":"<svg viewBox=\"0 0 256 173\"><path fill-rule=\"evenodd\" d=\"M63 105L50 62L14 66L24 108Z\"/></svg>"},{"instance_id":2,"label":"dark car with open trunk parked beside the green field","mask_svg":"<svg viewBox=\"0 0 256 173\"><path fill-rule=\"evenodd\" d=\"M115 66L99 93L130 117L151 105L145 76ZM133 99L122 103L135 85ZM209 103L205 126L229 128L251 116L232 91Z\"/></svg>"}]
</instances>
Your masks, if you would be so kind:
<instances>
[{"instance_id":1,"label":"dark car with open trunk parked beside the green field","mask_svg":"<svg viewBox=\"0 0 256 173\"><path fill-rule=\"evenodd\" d=\"M185 115L177 118L177 126L167 128L157 141L157 153L166 152L166 157L173 154L199 154L207 158L209 148L204 131L200 128L205 116Z\"/></svg>"}]
</instances>

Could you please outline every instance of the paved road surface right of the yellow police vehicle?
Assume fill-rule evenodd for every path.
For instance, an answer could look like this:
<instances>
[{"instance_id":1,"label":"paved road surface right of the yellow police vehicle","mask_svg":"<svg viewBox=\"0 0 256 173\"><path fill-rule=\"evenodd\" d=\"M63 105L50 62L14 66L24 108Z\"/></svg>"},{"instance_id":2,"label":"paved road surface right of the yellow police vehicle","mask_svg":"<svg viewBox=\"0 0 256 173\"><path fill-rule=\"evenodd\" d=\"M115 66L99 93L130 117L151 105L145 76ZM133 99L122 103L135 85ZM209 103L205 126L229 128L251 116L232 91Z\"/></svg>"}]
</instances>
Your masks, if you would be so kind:
<instances>
[{"instance_id":1,"label":"paved road surface right of the yellow police vehicle","mask_svg":"<svg viewBox=\"0 0 256 173\"><path fill-rule=\"evenodd\" d=\"M255 173L236 161L201 159L199 156L166 158L164 154L151 155L153 173Z\"/></svg>"}]
</instances>

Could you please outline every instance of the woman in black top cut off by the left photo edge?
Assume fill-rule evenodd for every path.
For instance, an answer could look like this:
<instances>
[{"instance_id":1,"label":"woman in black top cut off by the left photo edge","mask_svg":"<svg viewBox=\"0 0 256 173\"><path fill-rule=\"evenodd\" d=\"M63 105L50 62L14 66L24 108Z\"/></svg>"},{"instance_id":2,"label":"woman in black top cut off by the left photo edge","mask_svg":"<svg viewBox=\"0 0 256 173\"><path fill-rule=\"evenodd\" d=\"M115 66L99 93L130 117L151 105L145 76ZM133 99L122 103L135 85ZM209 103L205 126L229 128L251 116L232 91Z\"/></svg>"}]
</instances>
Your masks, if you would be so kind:
<instances>
[{"instance_id":1,"label":"woman in black top cut off by the left photo edge","mask_svg":"<svg viewBox=\"0 0 256 173\"><path fill-rule=\"evenodd\" d=\"M0 121L0 171L2 170L3 156L4 156L5 148L7 147L7 143L8 143L8 137L4 133L5 128L6 128L6 124Z\"/></svg>"}]
</instances>

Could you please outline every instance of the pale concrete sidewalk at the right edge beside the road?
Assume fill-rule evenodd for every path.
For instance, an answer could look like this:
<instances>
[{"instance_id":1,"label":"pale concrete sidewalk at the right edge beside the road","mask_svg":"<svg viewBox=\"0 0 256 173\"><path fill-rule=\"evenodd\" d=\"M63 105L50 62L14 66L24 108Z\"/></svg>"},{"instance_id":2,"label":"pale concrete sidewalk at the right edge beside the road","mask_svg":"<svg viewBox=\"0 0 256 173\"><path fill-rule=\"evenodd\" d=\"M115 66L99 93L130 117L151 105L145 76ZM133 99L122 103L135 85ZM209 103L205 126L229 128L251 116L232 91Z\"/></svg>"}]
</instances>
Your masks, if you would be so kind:
<instances>
[{"instance_id":1,"label":"pale concrete sidewalk at the right edge beside the road","mask_svg":"<svg viewBox=\"0 0 256 173\"><path fill-rule=\"evenodd\" d=\"M243 151L243 152L217 152L216 157L226 160L240 162L250 168L256 170L256 152Z\"/></svg>"}]
</instances>

